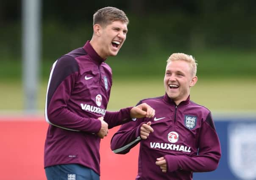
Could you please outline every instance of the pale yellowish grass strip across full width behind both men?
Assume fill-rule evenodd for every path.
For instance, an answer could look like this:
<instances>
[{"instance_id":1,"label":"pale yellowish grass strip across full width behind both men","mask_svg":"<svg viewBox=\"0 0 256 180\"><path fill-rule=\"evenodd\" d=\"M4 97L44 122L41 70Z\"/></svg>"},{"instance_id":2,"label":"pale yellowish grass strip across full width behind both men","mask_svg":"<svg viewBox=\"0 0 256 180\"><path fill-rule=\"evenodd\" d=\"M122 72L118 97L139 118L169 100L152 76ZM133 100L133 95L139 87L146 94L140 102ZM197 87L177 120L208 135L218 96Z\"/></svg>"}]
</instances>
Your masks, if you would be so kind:
<instances>
[{"instance_id":1,"label":"pale yellowish grass strip across full width behind both men","mask_svg":"<svg viewBox=\"0 0 256 180\"><path fill-rule=\"evenodd\" d=\"M136 80L114 79L109 110L133 106L140 99L164 94L163 78ZM47 82L38 88L39 111L44 110ZM208 107L212 112L256 112L256 79L199 79L191 89L191 100ZM1 82L0 111L24 109L24 91L19 81Z\"/></svg>"}]
</instances>

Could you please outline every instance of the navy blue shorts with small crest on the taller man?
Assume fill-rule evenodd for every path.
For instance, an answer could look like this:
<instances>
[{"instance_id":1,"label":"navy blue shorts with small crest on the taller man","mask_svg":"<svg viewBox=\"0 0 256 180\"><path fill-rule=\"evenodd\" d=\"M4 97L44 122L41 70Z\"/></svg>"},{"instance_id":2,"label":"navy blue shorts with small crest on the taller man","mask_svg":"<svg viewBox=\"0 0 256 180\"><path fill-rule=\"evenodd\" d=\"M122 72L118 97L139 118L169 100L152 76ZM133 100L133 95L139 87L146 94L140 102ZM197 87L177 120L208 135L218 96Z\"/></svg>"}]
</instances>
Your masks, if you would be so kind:
<instances>
[{"instance_id":1,"label":"navy blue shorts with small crest on the taller man","mask_svg":"<svg viewBox=\"0 0 256 180\"><path fill-rule=\"evenodd\" d=\"M45 168L47 180L100 180L100 176L80 164L62 164Z\"/></svg>"}]
</instances>

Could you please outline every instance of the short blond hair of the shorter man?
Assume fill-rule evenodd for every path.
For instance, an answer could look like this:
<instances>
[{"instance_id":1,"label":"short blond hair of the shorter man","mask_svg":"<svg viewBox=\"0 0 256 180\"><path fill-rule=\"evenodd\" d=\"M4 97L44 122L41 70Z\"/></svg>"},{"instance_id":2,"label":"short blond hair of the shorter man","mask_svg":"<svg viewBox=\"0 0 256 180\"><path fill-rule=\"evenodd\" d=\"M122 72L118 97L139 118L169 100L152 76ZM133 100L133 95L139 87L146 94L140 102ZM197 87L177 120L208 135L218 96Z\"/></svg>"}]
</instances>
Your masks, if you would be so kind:
<instances>
[{"instance_id":1,"label":"short blond hair of the shorter man","mask_svg":"<svg viewBox=\"0 0 256 180\"><path fill-rule=\"evenodd\" d=\"M191 70L192 70L192 75L196 75L197 71L197 62L195 58L192 55L187 55L184 53L173 53L170 55L170 57L167 59L167 64L169 64L172 61L186 61L189 63Z\"/></svg>"}]
</instances>

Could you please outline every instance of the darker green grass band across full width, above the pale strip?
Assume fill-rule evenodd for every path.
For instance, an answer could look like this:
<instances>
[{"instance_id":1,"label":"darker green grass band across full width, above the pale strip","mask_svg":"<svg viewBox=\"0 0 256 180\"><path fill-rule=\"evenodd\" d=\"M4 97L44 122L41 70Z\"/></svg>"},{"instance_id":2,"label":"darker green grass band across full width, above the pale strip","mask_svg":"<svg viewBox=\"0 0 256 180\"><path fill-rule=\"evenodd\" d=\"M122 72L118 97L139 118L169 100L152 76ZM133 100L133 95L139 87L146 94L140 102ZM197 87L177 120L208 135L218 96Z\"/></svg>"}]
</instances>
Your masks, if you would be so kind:
<instances>
[{"instance_id":1,"label":"darker green grass band across full width, above the pale strip","mask_svg":"<svg viewBox=\"0 0 256 180\"><path fill-rule=\"evenodd\" d=\"M256 79L255 51L236 51L227 48L205 51L185 51L170 48L166 51L158 46L155 47L154 51L144 54L125 54L120 51L120 54L116 57L110 57L106 62L111 66L115 78L134 79L147 76L160 78L164 75L167 57L173 52L184 52L195 56L198 61L198 77ZM42 80L47 81L50 67L57 58L54 56L52 59L44 59L39 63L39 77ZM0 81L21 80L22 62L20 58L6 55L0 60L0 67Z\"/></svg>"}]
</instances>

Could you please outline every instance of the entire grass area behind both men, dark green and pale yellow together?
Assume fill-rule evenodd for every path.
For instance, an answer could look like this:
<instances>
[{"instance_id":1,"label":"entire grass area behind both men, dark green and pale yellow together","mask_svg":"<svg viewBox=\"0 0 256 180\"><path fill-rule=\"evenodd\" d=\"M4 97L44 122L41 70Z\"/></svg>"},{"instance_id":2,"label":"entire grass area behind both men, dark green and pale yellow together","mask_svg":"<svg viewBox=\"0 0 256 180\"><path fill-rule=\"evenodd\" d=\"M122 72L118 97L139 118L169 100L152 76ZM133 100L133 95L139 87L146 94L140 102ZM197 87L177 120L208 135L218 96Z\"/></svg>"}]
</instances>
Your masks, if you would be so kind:
<instances>
[{"instance_id":1,"label":"entire grass area behind both men, dark green and pale yellow together","mask_svg":"<svg viewBox=\"0 0 256 180\"><path fill-rule=\"evenodd\" d=\"M124 47L125 48L125 47ZM138 50L139 51L139 50ZM169 50L168 50L169 51ZM164 94L163 76L167 57L178 52L154 48L147 54L118 54L107 60L113 71L113 87L108 109L136 105L140 99ZM228 49L188 51L198 61L199 81L191 89L191 99L212 111L256 112L256 53ZM57 57L39 64L38 104L43 110L50 67ZM23 110L22 63L14 56L0 60L0 111Z\"/></svg>"}]
</instances>

